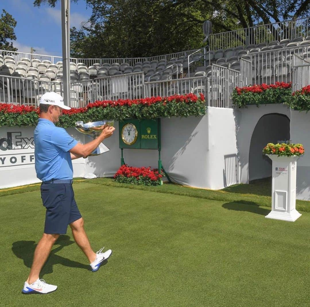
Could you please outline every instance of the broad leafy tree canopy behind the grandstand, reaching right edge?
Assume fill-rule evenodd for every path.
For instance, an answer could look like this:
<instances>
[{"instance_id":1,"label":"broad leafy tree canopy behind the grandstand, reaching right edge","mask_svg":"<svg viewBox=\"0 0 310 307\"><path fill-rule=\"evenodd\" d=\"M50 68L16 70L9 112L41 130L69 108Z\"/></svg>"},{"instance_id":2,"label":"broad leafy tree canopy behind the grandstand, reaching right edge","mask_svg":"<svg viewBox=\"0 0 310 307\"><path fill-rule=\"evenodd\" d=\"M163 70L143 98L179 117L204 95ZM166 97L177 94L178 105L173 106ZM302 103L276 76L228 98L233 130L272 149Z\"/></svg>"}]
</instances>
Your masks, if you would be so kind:
<instances>
[{"instance_id":1,"label":"broad leafy tree canopy behind the grandstand, reaching right edge","mask_svg":"<svg viewBox=\"0 0 310 307\"><path fill-rule=\"evenodd\" d=\"M57 0L35 0L34 4L40 6L43 2L55 6ZM211 20L213 33L219 33L288 18L295 20L310 12L310 0L86 0L86 3L92 8L92 15L81 29L71 30L72 56L144 57L197 49L203 46L205 20ZM289 29L290 26L282 27L281 33ZM272 26L270 30L275 32L274 39L278 39L280 32ZM252 38L250 31L247 35ZM238 35L237 43L245 43L245 31Z\"/></svg>"}]
</instances>

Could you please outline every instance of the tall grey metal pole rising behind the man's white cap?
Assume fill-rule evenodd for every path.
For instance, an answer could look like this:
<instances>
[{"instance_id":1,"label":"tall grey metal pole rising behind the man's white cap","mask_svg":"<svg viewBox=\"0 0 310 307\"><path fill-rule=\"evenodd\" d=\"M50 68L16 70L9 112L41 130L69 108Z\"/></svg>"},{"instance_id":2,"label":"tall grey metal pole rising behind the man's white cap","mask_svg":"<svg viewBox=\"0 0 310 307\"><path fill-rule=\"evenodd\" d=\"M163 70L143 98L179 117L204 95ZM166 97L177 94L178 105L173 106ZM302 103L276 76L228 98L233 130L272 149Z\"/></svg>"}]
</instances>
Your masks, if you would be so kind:
<instances>
[{"instance_id":1,"label":"tall grey metal pole rising behind the man's white cap","mask_svg":"<svg viewBox=\"0 0 310 307\"><path fill-rule=\"evenodd\" d=\"M62 65L64 104L70 105L70 0L61 0Z\"/></svg>"}]
</instances>

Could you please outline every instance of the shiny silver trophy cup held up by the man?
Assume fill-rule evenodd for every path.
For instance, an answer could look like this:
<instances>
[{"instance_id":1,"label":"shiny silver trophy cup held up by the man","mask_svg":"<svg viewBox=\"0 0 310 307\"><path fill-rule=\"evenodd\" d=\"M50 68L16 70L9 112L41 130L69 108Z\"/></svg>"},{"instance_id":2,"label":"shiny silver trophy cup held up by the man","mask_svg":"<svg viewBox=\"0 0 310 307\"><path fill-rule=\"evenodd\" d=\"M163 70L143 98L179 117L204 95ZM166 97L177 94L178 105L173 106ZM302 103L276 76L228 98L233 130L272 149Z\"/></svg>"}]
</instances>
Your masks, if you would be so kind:
<instances>
[{"instance_id":1,"label":"shiny silver trophy cup held up by the man","mask_svg":"<svg viewBox=\"0 0 310 307\"><path fill-rule=\"evenodd\" d=\"M101 120L85 124L82 121L78 121L75 123L75 129L83 134L86 134L88 137L95 139L100 135L102 131L101 127L104 125L113 127L114 120ZM100 143L99 146L90 154L90 156L98 156L109 150L110 149L108 149L108 147L106 147L103 143Z\"/></svg>"}]
</instances>

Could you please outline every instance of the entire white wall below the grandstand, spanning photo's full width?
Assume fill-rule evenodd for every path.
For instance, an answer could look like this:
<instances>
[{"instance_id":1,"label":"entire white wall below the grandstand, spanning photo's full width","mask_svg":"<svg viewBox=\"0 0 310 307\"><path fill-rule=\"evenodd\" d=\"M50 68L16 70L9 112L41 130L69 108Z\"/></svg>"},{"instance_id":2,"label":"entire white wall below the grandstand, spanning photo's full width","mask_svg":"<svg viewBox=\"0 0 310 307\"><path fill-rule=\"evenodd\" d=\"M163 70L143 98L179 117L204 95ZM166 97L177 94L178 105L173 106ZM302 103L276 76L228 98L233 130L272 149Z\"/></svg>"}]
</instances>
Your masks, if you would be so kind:
<instances>
[{"instance_id":1,"label":"entire white wall below the grandstand, spanning photo's full width","mask_svg":"<svg viewBox=\"0 0 310 307\"><path fill-rule=\"evenodd\" d=\"M252 134L259 119L266 114L283 114L291 118L291 112L286 106L270 104L259 107L248 106L238 110L209 107L206 115L199 118L189 116L162 119L163 167L176 182L192 187L221 189L236 183L248 183ZM305 156L297 162L297 198L304 199L310 199L308 116L305 112L292 111L290 131L290 139L293 142L303 143L306 148ZM281 125L281 121L277 124ZM121 164L121 150L117 122L115 127L117 130L113 136L104 141L110 151L100 156L73 160L74 177L83 177L89 173L96 174L97 177L112 177L116 173ZM21 133L19 134L21 144L28 147L6 151L0 148L0 188L39 181L34 171L34 160L29 165L26 163L20 163L18 166L1 165L1 158L7 154L9 157L16 156L19 159L21 156L26 156L25 159L30 160L30 155L34 152L33 146L29 145L30 139L33 138L33 130L31 127L0 128L0 139L7 138L8 132L15 132L15 141L18 141L16 133ZM75 129L68 129L68 132L83 143L89 140ZM277 135L272 135L270 129L264 129L260 138L265 137L277 138ZM125 163L128 165L157 168L157 150L124 149L123 152ZM265 170L260 172L258 177L264 177L265 173Z\"/></svg>"}]
</instances>

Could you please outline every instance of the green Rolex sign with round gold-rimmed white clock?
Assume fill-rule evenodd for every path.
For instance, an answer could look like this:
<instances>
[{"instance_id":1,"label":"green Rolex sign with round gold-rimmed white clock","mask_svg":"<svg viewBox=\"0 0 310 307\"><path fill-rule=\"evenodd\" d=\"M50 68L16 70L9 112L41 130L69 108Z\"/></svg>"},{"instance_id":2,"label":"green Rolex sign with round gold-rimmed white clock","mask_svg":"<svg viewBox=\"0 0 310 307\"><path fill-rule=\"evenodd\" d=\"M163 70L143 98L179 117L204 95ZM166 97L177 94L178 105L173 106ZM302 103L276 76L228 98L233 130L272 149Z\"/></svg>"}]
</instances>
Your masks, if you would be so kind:
<instances>
[{"instance_id":1,"label":"green Rolex sign with round gold-rimmed white clock","mask_svg":"<svg viewBox=\"0 0 310 307\"><path fill-rule=\"evenodd\" d=\"M119 147L160 149L159 119L125 120L119 122Z\"/></svg>"}]
</instances>

